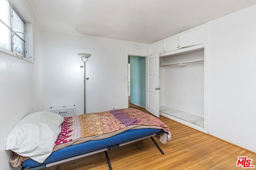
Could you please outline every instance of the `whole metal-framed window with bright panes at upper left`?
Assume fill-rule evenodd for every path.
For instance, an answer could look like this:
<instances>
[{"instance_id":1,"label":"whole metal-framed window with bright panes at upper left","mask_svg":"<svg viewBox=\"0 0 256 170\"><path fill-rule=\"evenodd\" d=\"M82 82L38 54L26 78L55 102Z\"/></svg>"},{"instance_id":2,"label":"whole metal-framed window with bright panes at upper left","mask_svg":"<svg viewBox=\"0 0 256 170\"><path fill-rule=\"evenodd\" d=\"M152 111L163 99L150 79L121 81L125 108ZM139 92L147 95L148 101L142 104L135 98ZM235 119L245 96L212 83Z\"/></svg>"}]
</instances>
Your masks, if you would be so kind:
<instances>
[{"instance_id":1,"label":"whole metal-framed window with bright panes at upper left","mask_svg":"<svg viewBox=\"0 0 256 170\"><path fill-rule=\"evenodd\" d=\"M26 56L25 22L8 0L0 0L0 47Z\"/></svg>"}]
</instances>

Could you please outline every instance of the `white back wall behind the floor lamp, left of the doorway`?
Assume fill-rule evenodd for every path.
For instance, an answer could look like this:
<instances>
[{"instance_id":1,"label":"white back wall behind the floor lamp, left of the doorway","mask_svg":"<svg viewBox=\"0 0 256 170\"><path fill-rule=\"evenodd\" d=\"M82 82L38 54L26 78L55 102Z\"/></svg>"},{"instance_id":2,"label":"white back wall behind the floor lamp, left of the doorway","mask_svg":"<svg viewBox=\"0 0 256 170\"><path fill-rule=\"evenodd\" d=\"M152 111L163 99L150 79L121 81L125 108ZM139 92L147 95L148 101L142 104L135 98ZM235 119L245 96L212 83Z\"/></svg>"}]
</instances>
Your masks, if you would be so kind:
<instances>
[{"instance_id":1,"label":"white back wall behind the floor lamp, left of the doorway","mask_svg":"<svg viewBox=\"0 0 256 170\"><path fill-rule=\"evenodd\" d=\"M77 53L92 54L86 62L86 113L128 106L127 54L147 55L147 44L50 30L43 34L44 110L75 104L75 114L84 113L84 71Z\"/></svg>"}]
</instances>

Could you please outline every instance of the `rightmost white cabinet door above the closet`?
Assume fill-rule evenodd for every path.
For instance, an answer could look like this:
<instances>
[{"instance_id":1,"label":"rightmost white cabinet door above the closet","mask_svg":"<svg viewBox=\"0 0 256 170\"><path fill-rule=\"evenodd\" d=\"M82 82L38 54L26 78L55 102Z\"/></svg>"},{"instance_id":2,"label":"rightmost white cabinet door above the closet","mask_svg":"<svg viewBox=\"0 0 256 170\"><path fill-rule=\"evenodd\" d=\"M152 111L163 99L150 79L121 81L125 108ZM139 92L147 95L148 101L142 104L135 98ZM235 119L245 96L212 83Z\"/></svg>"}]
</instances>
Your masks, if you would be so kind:
<instances>
[{"instance_id":1,"label":"rightmost white cabinet door above the closet","mask_svg":"<svg viewBox=\"0 0 256 170\"><path fill-rule=\"evenodd\" d=\"M204 28L181 34L179 36L180 48L204 43Z\"/></svg>"}]
</instances>

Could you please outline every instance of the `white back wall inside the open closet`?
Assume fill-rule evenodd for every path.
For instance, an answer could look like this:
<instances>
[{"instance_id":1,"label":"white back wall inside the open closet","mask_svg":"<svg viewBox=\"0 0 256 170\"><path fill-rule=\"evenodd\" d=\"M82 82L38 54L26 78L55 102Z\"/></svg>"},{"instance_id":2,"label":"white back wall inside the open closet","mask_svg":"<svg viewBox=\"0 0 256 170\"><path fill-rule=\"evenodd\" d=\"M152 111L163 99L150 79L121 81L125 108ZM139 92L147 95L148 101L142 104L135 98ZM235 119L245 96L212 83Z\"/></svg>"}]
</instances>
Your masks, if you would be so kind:
<instances>
[{"instance_id":1,"label":"white back wall inside the open closet","mask_svg":"<svg viewBox=\"0 0 256 170\"><path fill-rule=\"evenodd\" d=\"M161 64L204 59L204 51L160 58ZM204 117L204 64L164 67L160 71L164 106ZM164 79L164 80L162 80ZM161 91L160 90L160 91ZM162 97L160 96L162 99ZM163 99L162 99L163 100Z\"/></svg>"}]
</instances>

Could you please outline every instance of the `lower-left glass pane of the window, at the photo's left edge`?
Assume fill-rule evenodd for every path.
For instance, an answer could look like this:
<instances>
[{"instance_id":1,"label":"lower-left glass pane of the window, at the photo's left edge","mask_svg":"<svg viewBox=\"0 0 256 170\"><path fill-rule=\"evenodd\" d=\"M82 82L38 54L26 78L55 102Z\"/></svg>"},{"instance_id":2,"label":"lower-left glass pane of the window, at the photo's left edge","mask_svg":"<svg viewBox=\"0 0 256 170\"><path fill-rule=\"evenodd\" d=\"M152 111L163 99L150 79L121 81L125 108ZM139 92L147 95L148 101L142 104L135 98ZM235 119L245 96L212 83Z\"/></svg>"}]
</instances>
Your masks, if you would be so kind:
<instances>
[{"instance_id":1,"label":"lower-left glass pane of the window, at the photo's left edge","mask_svg":"<svg viewBox=\"0 0 256 170\"><path fill-rule=\"evenodd\" d=\"M0 47L12 50L11 30L0 22Z\"/></svg>"}]
</instances>

